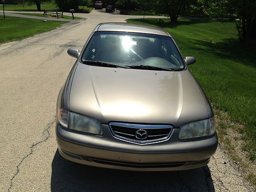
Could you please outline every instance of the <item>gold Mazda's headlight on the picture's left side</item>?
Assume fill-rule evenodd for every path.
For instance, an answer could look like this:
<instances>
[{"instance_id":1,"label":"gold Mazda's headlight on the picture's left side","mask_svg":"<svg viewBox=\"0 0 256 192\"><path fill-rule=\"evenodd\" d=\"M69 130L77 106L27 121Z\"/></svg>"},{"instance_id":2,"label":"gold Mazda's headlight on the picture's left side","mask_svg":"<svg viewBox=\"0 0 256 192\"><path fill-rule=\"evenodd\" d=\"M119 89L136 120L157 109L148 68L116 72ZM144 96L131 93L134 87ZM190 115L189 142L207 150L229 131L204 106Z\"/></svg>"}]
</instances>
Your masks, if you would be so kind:
<instances>
[{"instance_id":1,"label":"gold Mazda's headlight on the picture's left side","mask_svg":"<svg viewBox=\"0 0 256 192\"><path fill-rule=\"evenodd\" d=\"M69 129L102 135L99 121L91 117L69 112Z\"/></svg>"}]
</instances>

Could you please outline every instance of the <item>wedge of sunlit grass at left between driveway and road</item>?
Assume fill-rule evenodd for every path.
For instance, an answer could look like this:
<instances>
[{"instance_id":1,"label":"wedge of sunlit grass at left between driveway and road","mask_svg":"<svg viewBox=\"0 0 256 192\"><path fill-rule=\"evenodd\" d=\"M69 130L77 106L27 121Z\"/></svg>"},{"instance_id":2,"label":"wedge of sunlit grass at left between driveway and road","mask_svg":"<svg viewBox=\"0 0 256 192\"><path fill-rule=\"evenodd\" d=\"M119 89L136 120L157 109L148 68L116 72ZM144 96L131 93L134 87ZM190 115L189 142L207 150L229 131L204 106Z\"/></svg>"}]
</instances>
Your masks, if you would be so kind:
<instances>
[{"instance_id":1,"label":"wedge of sunlit grass at left between driveway and road","mask_svg":"<svg viewBox=\"0 0 256 192\"><path fill-rule=\"evenodd\" d=\"M0 16L0 44L7 41L22 39L38 33L55 29L67 22L55 22L22 17Z\"/></svg>"}]
</instances>

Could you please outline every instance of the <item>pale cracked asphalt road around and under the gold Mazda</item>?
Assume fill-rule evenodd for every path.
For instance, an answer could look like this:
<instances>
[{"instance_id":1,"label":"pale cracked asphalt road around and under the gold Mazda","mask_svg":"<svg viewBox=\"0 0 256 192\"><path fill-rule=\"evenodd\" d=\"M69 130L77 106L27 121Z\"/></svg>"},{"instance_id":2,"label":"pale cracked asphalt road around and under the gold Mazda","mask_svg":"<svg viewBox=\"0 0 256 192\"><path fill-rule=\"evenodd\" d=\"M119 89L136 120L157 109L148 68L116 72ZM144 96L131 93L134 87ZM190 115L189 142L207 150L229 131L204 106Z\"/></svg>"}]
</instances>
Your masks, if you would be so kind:
<instances>
[{"instance_id":1,"label":"pale cracked asphalt road around and under the gold Mazda","mask_svg":"<svg viewBox=\"0 0 256 192\"><path fill-rule=\"evenodd\" d=\"M101 22L128 17L93 11L79 23L0 45L0 191L253 191L219 146L208 166L181 172L127 172L60 157L54 135L57 94Z\"/></svg>"}]
</instances>

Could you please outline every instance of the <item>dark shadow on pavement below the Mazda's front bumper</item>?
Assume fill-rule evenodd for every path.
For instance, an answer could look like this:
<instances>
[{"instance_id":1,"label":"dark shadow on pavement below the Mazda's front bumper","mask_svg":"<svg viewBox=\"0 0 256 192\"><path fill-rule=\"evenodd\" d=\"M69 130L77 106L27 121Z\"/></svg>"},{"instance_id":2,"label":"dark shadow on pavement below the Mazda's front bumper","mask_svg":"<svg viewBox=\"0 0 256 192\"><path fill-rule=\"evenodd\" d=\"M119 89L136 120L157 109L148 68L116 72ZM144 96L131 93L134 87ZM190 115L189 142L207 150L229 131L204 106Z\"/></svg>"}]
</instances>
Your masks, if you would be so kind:
<instances>
[{"instance_id":1,"label":"dark shadow on pavement below the Mazda's front bumper","mask_svg":"<svg viewBox=\"0 0 256 192\"><path fill-rule=\"evenodd\" d=\"M70 162L56 151L51 191L215 191L208 166L179 172L130 172Z\"/></svg>"}]
</instances>

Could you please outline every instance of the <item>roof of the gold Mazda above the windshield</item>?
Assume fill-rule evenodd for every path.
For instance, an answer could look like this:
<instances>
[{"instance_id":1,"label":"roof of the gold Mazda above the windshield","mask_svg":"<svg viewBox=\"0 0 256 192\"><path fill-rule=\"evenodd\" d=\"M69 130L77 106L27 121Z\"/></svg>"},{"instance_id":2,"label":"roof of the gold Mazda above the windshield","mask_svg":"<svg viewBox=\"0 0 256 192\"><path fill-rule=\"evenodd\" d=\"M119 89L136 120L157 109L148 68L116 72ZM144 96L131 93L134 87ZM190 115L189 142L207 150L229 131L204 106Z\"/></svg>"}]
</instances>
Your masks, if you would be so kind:
<instances>
[{"instance_id":1,"label":"roof of the gold Mazda above the windshield","mask_svg":"<svg viewBox=\"0 0 256 192\"><path fill-rule=\"evenodd\" d=\"M98 25L96 31L119 31L169 36L169 34L160 27L128 23L102 23Z\"/></svg>"}]
</instances>

